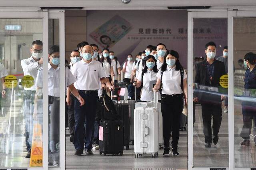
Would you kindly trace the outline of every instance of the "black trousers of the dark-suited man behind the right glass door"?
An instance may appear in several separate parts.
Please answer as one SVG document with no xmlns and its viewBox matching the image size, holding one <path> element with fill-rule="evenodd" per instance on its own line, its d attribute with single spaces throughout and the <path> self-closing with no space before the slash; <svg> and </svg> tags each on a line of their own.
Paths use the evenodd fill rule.
<svg viewBox="0 0 256 170">
<path fill-rule="evenodd" d="M 220 124 L 222 120 L 222 109 L 221 105 L 213 105 L 202 103 L 202 118 L 204 125 L 204 142 L 212 143 L 212 133 L 213 136 L 218 136 L 220 131 Z M 213 119 L 212 127 L 211 122 Z"/>
</svg>

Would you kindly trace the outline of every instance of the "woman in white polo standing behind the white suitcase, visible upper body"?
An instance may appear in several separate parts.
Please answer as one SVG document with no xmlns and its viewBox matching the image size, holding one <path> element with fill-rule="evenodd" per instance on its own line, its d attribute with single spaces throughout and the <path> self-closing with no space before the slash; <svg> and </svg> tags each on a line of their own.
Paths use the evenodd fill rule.
<svg viewBox="0 0 256 170">
<path fill-rule="evenodd" d="M 133 83 L 137 88 L 142 86 L 142 94 L 140 100 L 142 101 L 153 101 L 154 93 L 150 91 L 150 81 L 157 80 L 157 67 L 156 59 L 153 55 L 148 55 L 145 59 L 145 67 L 142 72 L 138 75 L 137 81 Z"/>
</svg>

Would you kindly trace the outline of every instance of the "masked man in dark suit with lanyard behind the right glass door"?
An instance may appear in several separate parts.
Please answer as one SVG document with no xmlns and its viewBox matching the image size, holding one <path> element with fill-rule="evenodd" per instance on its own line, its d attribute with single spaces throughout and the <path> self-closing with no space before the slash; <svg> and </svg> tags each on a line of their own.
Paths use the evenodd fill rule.
<svg viewBox="0 0 256 170">
<path fill-rule="evenodd" d="M 221 101 L 224 99 L 224 95 L 218 93 L 218 87 L 220 87 L 220 77 L 225 75 L 226 71 L 224 63 L 214 59 L 216 54 L 214 42 L 205 45 L 205 53 L 206 59 L 196 64 L 195 83 L 199 85 L 200 90 L 194 93 L 193 101 L 200 102 L 202 105 L 205 147 L 210 148 L 212 141 L 217 144 L 219 139 L 218 132 L 222 120 Z M 213 125 L 211 128 L 212 118 Z"/>
</svg>

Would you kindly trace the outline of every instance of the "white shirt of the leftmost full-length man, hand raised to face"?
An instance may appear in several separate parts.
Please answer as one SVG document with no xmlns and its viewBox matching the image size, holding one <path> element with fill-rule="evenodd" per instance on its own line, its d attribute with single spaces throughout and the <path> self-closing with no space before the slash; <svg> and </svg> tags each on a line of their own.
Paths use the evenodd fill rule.
<svg viewBox="0 0 256 170">
<path fill-rule="evenodd" d="M 41 64 L 38 64 L 38 61 L 35 61 L 33 57 L 29 57 L 27 59 L 22 59 L 20 61 L 21 67 L 23 69 L 24 75 L 30 75 L 34 78 L 34 82 L 36 82 L 36 76 L 38 69 L 41 67 Z M 36 85 L 34 85 L 30 88 L 24 87 L 24 90 L 36 90 Z"/>
</svg>

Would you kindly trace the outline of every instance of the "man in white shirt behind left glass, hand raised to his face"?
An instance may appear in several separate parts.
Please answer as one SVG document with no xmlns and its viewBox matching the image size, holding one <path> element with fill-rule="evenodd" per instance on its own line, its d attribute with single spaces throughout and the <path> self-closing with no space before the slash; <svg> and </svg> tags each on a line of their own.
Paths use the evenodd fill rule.
<svg viewBox="0 0 256 170">
<path fill-rule="evenodd" d="M 21 67 L 23 69 L 24 76 L 30 75 L 33 77 L 34 82 L 36 81 L 36 76 L 38 69 L 43 64 L 43 43 L 40 40 L 32 42 L 30 47 L 31 56 L 27 59 L 22 59 L 20 61 Z M 33 85 L 30 88 L 24 87 L 24 115 L 25 115 L 25 131 L 26 131 L 26 146 L 28 153 L 25 156 L 30 158 L 31 146 L 32 146 L 32 134 L 33 134 L 33 118 L 34 113 L 34 97 L 36 93 L 36 86 Z"/>
</svg>

